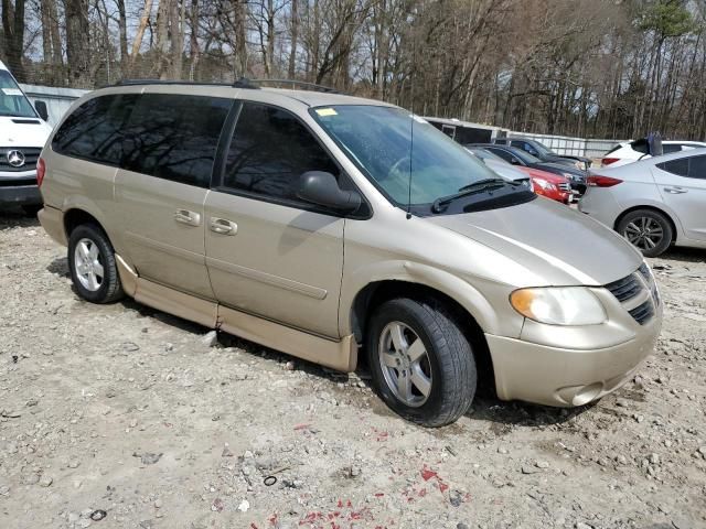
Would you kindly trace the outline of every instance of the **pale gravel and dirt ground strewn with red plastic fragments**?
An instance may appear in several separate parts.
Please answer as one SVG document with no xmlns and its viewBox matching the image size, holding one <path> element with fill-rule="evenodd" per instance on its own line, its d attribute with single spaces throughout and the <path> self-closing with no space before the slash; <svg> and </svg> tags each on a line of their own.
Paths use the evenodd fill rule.
<svg viewBox="0 0 706 529">
<path fill-rule="evenodd" d="M 425 430 L 364 374 L 81 301 L 65 249 L 3 214 L 0 527 L 706 527 L 705 260 L 651 261 L 664 330 L 616 395 Z"/>
</svg>

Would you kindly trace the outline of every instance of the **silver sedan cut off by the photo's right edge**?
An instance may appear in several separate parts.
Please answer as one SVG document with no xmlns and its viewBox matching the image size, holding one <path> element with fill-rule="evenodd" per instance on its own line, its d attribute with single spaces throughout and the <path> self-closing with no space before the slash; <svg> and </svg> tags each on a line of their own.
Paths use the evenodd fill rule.
<svg viewBox="0 0 706 529">
<path fill-rule="evenodd" d="M 706 248 L 706 149 L 597 170 L 579 209 L 645 257 L 671 245 Z"/>
</svg>

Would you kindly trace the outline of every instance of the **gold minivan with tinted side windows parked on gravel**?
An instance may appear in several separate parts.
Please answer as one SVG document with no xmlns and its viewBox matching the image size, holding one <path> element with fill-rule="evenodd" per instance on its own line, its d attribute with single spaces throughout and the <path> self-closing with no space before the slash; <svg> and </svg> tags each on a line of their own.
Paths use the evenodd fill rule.
<svg viewBox="0 0 706 529">
<path fill-rule="evenodd" d="M 127 83 L 76 101 L 38 169 L 84 299 L 127 294 L 342 371 L 362 353 L 424 425 L 456 421 L 477 384 L 596 400 L 660 331 L 628 242 L 382 101 Z"/>
</svg>

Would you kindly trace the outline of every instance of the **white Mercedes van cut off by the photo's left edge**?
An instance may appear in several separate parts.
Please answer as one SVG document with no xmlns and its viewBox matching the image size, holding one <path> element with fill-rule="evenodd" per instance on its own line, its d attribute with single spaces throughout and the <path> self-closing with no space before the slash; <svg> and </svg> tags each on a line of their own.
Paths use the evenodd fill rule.
<svg viewBox="0 0 706 529">
<path fill-rule="evenodd" d="M 35 105 L 0 62 L 0 210 L 11 205 L 36 210 L 42 204 L 36 162 L 52 128 L 46 104 Z"/>
</svg>

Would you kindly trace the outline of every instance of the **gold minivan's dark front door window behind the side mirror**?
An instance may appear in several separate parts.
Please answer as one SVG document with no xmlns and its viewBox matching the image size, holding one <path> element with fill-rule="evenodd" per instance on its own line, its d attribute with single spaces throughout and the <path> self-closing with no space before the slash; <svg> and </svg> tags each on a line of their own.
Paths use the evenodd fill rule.
<svg viewBox="0 0 706 529">
<path fill-rule="evenodd" d="M 245 102 L 228 149 L 223 185 L 268 198 L 301 202 L 300 176 L 338 165 L 303 123 L 280 108 Z"/>
</svg>

